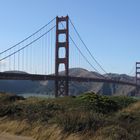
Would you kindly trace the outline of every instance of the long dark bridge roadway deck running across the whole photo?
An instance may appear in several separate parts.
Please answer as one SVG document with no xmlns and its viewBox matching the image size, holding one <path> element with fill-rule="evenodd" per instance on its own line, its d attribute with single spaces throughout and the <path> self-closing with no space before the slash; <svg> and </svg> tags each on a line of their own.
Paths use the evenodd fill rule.
<svg viewBox="0 0 140 140">
<path fill-rule="evenodd" d="M 136 83 L 126 82 L 120 80 L 113 80 L 108 78 L 94 78 L 94 77 L 73 77 L 73 76 L 55 76 L 55 75 L 39 75 L 39 74 L 27 74 L 27 73 L 6 73 L 0 72 L 0 80 L 33 80 L 33 81 L 44 81 L 44 80 L 66 80 L 76 82 L 99 82 L 99 83 L 114 83 L 121 85 L 137 86 Z"/>
</svg>

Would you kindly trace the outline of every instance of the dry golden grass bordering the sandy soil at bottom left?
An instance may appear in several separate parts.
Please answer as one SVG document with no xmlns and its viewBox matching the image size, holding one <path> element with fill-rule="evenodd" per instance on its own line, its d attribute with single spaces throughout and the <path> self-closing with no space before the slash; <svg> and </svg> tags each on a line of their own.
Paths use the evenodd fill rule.
<svg viewBox="0 0 140 140">
<path fill-rule="evenodd" d="M 10 133 L 13 135 L 29 136 L 35 140 L 82 140 L 79 134 L 63 133 L 57 125 L 40 125 L 34 123 L 29 125 L 26 120 L 8 120 L 1 118 L 0 133 Z"/>
</svg>

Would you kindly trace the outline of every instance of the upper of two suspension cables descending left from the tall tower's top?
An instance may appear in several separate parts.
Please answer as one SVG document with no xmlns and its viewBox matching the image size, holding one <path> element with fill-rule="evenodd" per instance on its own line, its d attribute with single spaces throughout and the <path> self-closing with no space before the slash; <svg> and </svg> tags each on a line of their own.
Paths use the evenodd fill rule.
<svg viewBox="0 0 140 140">
<path fill-rule="evenodd" d="M 27 38 L 23 39 L 22 41 L 20 41 L 19 43 L 15 44 L 14 46 L 0 52 L 0 55 L 15 48 L 16 46 L 18 46 L 19 44 L 25 42 L 26 40 L 28 40 L 29 38 L 31 38 L 32 36 L 34 36 L 35 34 L 37 34 L 38 32 L 40 32 L 41 30 L 43 30 L 45 27 L 47 27 L 49 24 L 51 24 L 53 21 L 55 20 L 55 18 L 53 18 L 50 22 L 48 22 L 47 24 L 45 24 L 43 27 L 41 27 L 39 30 L 37 30 L 36 32 L 34 32 L 33 34 L 31 34 L 30 36 L 28 36 Z"/>
</svg>

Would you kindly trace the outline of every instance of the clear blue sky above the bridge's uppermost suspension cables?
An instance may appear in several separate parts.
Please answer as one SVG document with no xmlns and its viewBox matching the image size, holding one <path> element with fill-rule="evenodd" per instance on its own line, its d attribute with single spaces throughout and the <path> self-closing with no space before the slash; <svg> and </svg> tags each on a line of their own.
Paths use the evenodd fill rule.
<svg viewBox="0 0 140 140">
<path fill-rule="evenodd" d="M 140 0 L 0 0 L 0 51 L 67 14 L 107 72 L 140 61 Z"/>
</svg>

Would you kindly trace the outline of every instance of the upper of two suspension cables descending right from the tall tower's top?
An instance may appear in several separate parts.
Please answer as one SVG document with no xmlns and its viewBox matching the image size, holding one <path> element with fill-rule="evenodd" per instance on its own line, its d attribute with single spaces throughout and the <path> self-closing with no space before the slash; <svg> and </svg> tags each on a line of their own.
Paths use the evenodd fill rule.
<svg viewBox="0 0 140 140">
<path fill-rule="evenodd" d="M 90 56 L 92 57 L 92 59 L 96 62 L 96 64 L 101 68 L 101 70 L 107 74 L 106 70 L 101 66 L 101 64 L 96 60 L 96 58 L 92 55 L 92 53 L 90 52 L 89 48 L 87 47 L 87 45 L 85 44 L 85 42 L 83 41 L 82 37 L 80 36 L 79 32 L 77 31 L 76 27 L 74 26 L 72 20 L 69 18 L 70 23 L 72 25 L 72 27 L 74 28 L 77 36 L 79 37 L 79 39 L 81 40 L 81 42 L 83 43 L 83 45 L 85 46 L 86 50 L 88 51 L 88 53 L 90 54 Z"/>
</svg>

